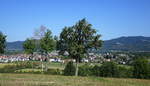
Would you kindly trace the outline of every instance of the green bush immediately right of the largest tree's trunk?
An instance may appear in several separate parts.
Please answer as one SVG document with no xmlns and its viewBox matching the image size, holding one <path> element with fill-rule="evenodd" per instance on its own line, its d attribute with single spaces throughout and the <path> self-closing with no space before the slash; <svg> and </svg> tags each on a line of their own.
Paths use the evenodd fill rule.
<svg viewBox="0 0 150 86">
<path fill-rule="evenodd" d="M 91 76 L 92 67 L 88 64 L 79 67 L 79 76 Z"/>
</svg>

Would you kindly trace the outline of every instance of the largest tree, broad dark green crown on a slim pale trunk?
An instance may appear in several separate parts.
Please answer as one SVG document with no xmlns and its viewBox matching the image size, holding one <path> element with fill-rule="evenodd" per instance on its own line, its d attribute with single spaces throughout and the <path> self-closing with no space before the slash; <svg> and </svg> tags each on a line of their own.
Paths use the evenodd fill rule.
<svg viewBox="0 0 150 86">
<path fill-rule="evenodd" d="M 88 54 L 89 49 L 98 49 L 102 45 L 101 35 L 92 28 L 86 19 L 82 19 L 72 27 L 65 27 L 60 34 L 59 49 L 67 51 L 69 56 L 76 60 L 76 73 L 78 76 L 78 63 Z"/>
</svg>

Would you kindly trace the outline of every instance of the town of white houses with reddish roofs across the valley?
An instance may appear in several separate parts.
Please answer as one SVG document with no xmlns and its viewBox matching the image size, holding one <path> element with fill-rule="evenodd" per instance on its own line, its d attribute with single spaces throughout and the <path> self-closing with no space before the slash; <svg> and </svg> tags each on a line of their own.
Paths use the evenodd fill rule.
<svg viewBox="0 0 150 86">
<path fill-rule="evenodd" d="M 61 59 L 59 58 L 59 54 L 57 51 L 52 52 L 48 55 L 49 59 L 47 59 L 44 56 L 41 56 L 39 54 L 34 54 L 33 57 L 31 58 L 31 55 L 27 54 L 17 54 L 17 55 L 2 55 L 0 56 L 0 62 L 1 63 L 6 63 L 6 62 L 16 62 L 16 61 L 29 61 L 29 60 L 36 60 L 36 61 L 49 61 L 49 62 L 66 62 L 69 61 L 67 59 Z M 126 54 L 117 54 L 114 55 L 112 53 L 103 53 L 103 54 L 95 54 L 95 53 L 89 53 L 88 58 L 83 58 L 81 61 L 82 62 L 94 62 L 94 63 L 103 63 L 106 61 L 112 61 L 115 60 L 120 64 L 126 64 L 126 61 L 129 56 Z M 72 60 L 75 62 L 75 60 Z"/>
</svg>

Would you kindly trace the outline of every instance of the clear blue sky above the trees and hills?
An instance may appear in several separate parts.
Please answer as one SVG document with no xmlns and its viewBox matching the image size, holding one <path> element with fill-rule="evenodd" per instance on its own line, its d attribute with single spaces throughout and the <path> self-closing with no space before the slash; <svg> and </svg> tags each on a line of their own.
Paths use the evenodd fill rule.
<svg viewBox="0 0 150 86">
<path fill-rule="evenodd" d="M 32 37 L 41 25 L 59 36 L 83 18 L 103 40 L 150 37 L 150 0 L 0 0 L 0 31 L 9 42 Z"/>
</svg>

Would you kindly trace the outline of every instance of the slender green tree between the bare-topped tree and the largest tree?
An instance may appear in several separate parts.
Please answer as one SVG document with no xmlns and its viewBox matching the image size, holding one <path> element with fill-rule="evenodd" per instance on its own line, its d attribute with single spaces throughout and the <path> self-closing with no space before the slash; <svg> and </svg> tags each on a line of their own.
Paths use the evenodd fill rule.
<svg viewBox="0 0 150 86">
<path fill-rule="evenodd" d="M 56 43 L 52 36 L 52 32 L 47 29 L 44 34 L 44 37 L 40 40 L 41 52 L 46 56 L 46 60 L 48 60 L 48 55 L 55 49 Z M 47 71 L 47 65 L 46 65 Z"/>
</svg>

